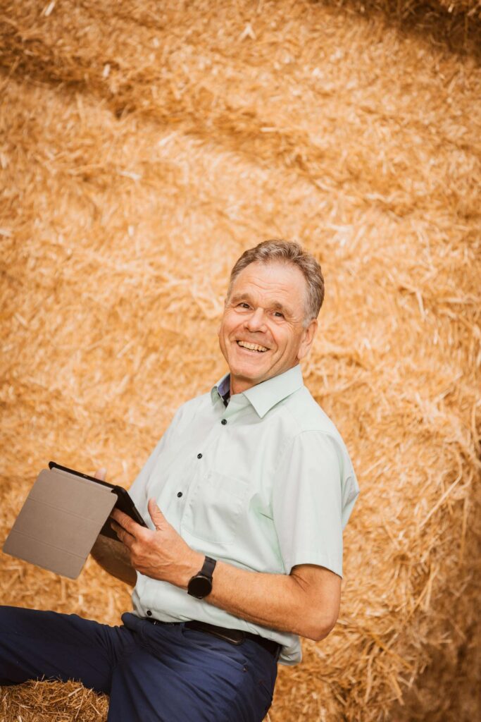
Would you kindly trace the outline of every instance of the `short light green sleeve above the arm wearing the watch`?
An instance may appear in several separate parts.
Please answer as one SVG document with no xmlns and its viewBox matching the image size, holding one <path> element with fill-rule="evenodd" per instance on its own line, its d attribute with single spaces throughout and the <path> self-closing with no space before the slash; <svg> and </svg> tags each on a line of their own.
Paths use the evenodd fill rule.
<svg viewBox="0 0 481 722">
<path fill-rule="evenodd" d="M 309 430 L 296 435 L 281 458 L 273 518 L 286 573 L 299 564 L 343 575 L 343 527 L 358 486 L 342 440 Z"/>
</svg>

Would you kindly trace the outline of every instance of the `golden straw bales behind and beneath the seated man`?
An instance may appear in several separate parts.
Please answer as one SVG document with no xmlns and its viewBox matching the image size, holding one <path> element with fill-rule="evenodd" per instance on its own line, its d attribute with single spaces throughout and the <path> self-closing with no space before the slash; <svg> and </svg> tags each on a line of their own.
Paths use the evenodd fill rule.
<svg viewBox="0 0 481 722">
<path fill-rule="evenodd" d="M 475 61 L 302 1 L 30 1 L 2 28 L 3 534 L 50 458 L 128 486 L 224 372 L 233 261 L 299 238 L 327 280 L 304 375 L 361 497 L 339 622 L 281 669 L 270 718 L 479 717 Z M 2 556 L 0 583 L 110 623 L 129 604 L 92 561 L 70 581 Z M 107 703 L 34 684 L 1 704 Z"/>
</svg>

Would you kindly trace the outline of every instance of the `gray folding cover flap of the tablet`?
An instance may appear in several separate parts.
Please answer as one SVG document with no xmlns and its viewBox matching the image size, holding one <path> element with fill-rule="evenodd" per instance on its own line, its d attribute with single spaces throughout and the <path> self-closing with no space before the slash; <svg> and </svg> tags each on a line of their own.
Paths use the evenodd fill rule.
<svg viewBox="0 0 481 722">
<path fill-rule="evenodd" d="M 3 551 L 76 579 L 116 500 L 101 484 L 59 469 L 43 469 Z"/>
</svg>

